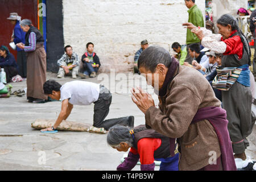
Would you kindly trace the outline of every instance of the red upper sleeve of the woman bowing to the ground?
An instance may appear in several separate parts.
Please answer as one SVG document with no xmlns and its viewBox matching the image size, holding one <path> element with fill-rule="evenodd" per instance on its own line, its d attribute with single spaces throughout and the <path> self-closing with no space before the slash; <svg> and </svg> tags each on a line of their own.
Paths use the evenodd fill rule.
<svg viewBox="0 0 256 182">
<path fill-rule="evenodd" d="M 159 138 L 142 138 L 139 140 L 137 146 L 141 164 L 154 163 L 154 152 L 161 143 L 162 140 Z"/>
</svg>

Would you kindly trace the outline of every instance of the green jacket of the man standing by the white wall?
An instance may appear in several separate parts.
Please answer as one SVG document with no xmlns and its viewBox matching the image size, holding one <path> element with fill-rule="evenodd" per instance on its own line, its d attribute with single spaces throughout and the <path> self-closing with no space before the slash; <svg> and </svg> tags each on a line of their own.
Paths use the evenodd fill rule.
<svg viewBox="0 0 256 182">
<path fill-rule="evenodd" d="M 204 27 L 203 14 L 197 5 L 188 10 L 188 22 L 193 23 L 196 27 Z M 187 44 L 199 43 L 200 41 L 191 30 L 187 29 Z"/>
</svg>

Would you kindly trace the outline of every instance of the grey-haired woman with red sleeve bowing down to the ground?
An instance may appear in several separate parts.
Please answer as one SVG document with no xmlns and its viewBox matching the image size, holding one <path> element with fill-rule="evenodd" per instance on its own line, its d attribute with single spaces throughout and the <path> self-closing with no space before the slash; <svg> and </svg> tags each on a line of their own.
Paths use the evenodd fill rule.
<svg viewBox="0 0 256 182">
<path fill-rule="evenodd" d="M 134 129 L 115 125 L 109 129 L 108 144 L 119 152 L 129 154 L 125 161 L 117 167 L 118 171 L 131 171 L 138 160 L 142 171 L 154 171 L 156 161 L 161 161 L 160 171 L 178 171 L 179 153 L 177 150 L 171 156 L 168 137 L 139 125 Z"/>
</svg>

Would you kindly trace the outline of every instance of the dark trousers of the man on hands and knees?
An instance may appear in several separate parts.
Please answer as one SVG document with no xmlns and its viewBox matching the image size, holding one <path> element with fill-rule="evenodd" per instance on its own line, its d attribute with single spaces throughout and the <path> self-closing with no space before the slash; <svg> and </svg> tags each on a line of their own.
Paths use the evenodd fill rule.
<svg viewBox="0 0 256 182">
<path fill-rule="evenodd" d="M 94 102 L 94 115 L 93 115 L 93 126 L 104 127 L 105 130 L 109 130 L 114 125 L 126 125 L 128 126 L 128 117 L 107 119 L 106 116 L 109 114 L 109 107 L 112 102 L 112 94 L 104 86 L 100 86 L 100 96 L 98 101 Z"/>
</svg>

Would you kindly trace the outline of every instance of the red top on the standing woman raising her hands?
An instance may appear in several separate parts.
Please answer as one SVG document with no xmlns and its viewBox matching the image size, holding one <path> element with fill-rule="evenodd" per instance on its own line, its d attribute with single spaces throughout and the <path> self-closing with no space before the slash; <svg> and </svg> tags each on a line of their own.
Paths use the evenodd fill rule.
<svg viewBox="0 0 256 182">
<path fill-rule="evenodd" d="M 224 55 L 237 55 L 239 59 L 242 58 L 243 43 L 240 36 L 233 36 L 233 38 L 225 39 L 223 42 L 226 44 L 226 52 L 224 52 Z"/>
</svg>

